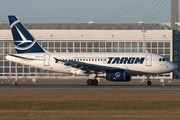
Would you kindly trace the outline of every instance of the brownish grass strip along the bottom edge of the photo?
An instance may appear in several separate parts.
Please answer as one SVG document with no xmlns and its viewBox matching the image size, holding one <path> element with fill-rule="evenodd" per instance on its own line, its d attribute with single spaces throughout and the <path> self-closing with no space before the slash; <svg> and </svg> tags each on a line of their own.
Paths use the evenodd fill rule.
<svg viewBox="0 0 180 120">
<path fill-rule="evenodd" d="M 2 120 L 179 120 L 179 111 L 26 111 L 0 112 Z"/>
</svg>

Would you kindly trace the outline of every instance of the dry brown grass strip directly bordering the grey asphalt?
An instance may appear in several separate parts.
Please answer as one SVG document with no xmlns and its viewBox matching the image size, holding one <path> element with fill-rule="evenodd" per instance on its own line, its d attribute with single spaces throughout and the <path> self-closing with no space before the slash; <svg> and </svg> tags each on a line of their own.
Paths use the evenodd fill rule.
<svg viewBox="0 0 180 120">
<path fill-rule="evenodd" d="M 180 101 L 180 91 L 0 90 L 0 101 Z"/>
</svg>

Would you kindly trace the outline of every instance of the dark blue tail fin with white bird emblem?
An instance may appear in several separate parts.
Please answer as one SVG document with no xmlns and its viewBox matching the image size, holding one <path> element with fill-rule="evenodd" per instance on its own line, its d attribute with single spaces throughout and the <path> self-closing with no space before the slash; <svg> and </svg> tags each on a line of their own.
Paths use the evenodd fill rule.
<svg viewBox="0 0 180 120">
<path fill-rule="evenodd" d="M 45 52 L 16 16 L 8 18 L 17 54 Z"/>
</svg>

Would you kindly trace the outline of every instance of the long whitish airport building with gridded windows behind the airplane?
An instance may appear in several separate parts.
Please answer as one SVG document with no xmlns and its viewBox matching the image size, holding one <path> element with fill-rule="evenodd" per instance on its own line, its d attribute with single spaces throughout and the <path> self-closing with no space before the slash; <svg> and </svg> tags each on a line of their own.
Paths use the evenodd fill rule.
<svg viewBox="0 0 180 120">
<path fill-rule="evenodd" d="M 152 52 L 166 56 L 179 66 L 179 31 L 162 23 L 24 23 L 37 41 L 51 52 Z M 67 78 L 72 75 L 8 62 L 15 54 L 9 23 L 0 23 L 0 79 Z M 174 73 L 154 79 L 177 79 Z M 142 79 L 142 76 L 133 76 Z"/>
</svg>

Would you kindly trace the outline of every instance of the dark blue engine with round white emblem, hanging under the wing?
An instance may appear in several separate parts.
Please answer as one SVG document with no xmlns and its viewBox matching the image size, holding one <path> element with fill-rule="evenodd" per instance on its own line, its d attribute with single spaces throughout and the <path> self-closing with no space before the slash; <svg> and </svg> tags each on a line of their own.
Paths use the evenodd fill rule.
<svg viewBox="0 0 180 120">
<path fill-rule="evenodd" d="M 131 76 L 126 75 L 126 71 L 122 69 L 109 69 L 106 70 L 106 80 L 125 82 L 131 81 Z"/>
</svg>

